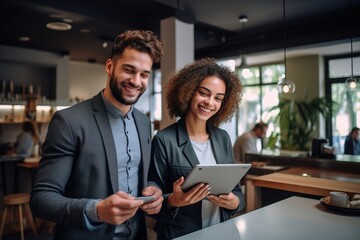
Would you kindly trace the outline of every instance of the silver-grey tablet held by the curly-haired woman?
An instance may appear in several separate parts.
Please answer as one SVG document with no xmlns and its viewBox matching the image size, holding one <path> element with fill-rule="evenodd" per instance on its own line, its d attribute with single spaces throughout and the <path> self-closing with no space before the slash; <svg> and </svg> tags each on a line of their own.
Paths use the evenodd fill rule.
<svg viewBox="0 0 360 240">
<path fill-rule="evenodd" d="M 186 192 L 198 183 L 210 185 L 210 194 L 229 194 L 251 167 L 245 164 L 198 164 L 185 178 L 181 189 Z"/>
</svg>

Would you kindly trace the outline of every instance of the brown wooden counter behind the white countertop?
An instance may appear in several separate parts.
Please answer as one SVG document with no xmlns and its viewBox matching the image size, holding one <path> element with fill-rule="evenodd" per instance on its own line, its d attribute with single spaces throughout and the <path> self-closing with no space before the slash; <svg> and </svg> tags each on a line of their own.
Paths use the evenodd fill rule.
<svg viewBox="0 0 360 240">
<path fill-rule="evenodd" d="M 334 159 L 247 154 L 253 167 L 245 176 L 246 212 L 290 196 L 320 199 L 331 191 L 360 193 L 360 156 Z"/>
</svg>

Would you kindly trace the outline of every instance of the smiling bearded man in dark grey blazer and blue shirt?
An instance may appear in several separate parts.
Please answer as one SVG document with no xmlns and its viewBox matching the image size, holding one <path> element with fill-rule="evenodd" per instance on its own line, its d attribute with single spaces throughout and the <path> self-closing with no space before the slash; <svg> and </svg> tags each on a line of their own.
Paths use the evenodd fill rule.
<svg viewBox="0 0 360 240">
<path fill-rule="evenodd" d="M 54 114 L 30 201 L 36 217 L 56 223 L 54 239 L 147 239 L 144 212 L 158 213 L 163 197 L 147 186 L 150 121 L 133 104 L 162 53 L 152 32 L 119 35 L 105 89 Z"/>
</svg>

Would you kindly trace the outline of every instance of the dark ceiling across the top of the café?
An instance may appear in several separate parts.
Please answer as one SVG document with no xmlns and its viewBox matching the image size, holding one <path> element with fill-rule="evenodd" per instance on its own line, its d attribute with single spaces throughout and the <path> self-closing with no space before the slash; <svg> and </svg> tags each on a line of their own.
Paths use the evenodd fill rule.
<svg viewBox="0 0 360 240">
<path fill-rule="evenodd" d="M 44 50 L 71 60 L 104 63 L 127 29 L 160 36 L 160 21 L 193 23 L 195 58 L 226 58 L 298 46 L 348 43 L 360 37 L 360 0 L 1 0 L 1 45 Z M 247 23 L 238 17 L 246 15 Z M 72 20 L 68 31 L 46 28 Z M 22 42 L 20 37 L 29 37 Z"/>
</svg>

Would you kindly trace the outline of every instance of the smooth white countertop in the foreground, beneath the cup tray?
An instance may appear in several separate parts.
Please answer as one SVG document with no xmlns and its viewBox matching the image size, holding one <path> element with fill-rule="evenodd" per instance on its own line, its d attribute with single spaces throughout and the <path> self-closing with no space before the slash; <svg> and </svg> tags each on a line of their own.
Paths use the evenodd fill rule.
<svg viewBox="0 0 360 240">
<path fill-rule="evenodd" d="M 290 197 L 176 240 L 358 240 L 360 216 L 344 215 L 318 200 Z"/>
</svg>

